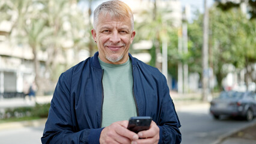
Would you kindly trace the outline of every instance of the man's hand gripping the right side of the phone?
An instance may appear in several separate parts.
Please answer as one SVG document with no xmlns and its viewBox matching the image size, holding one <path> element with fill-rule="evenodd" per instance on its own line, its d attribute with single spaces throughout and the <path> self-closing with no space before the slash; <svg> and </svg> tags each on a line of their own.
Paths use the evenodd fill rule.
<svg viewBox="0 0 256 144">
<path fill-rule="evenodd" d="M 150 129 L 145 130 L 145 131 L 139 131 L 138 136 L 139 136 L 139 138 L 142 138 L 142 139 L 133 140 L 132 143 L 137 143 L 137 144 L 158 143 L 158 141 L 159 141 L 159 127 L 156 125 L 156 123 L 154 121 L 151 121 Z"/>
</svg>

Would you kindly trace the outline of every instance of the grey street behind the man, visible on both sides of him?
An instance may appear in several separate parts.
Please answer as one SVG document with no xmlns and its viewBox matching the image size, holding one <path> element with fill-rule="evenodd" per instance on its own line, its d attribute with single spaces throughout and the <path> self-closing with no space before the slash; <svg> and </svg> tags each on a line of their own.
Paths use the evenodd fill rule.
<svg viewBox="0 0 256 144">
<path fill-rule="evenodd" d="M 251 122 L 224 118 L 214 120 L 209 115 L 209 104 L 176 107 L 182 127 L 181 144 L 211 144 L 220 136 L 245 127 Z M 256 118 L 254 119 L 256 122 Z M 0 131 L 0 143 L 39 144 L 44 125 Z"/>
</svg>

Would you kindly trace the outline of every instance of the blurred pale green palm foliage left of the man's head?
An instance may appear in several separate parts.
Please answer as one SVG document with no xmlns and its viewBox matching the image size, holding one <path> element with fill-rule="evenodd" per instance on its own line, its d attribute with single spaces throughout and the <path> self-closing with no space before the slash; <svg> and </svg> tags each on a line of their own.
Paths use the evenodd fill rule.
<svg viewBox="0 0 256 144">
<path fill-rule="evenodd" d="M 77 63 L 79 50 L 85 48 L 89 41 L 89 19 L 77 6 L 73 0 L 0 2 L 1 20 L 13 23 L 9 34 L 9 38 L 14 41 L 12 45 L 16 43 L 32 48 L 38 91 L 44 89 L 39 83 L 47 86 L 49 80 L 56 82 L 61 71 L 73 65 L 67 59 L 69 49 L 73 50 Z M 47 58 L 38 58 L 39 52 L 46 53 Z M 62 60 L 59 61 L 59 58 Z M 45 64 L 45 71 L 40 71 L 42 62 Z"/>
</svg>

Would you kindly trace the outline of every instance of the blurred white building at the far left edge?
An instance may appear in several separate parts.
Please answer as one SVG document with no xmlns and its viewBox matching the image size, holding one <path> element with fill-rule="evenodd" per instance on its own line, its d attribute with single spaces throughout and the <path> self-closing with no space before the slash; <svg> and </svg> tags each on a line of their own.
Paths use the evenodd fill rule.
<svg viewBox="0 0 256 144">
<path fill-rule="evenodd" d="M 0 23 L 0 97 L 23 97 L 34 80 L 32 50 L 28 46 L 12 45 L 8 38 L 12 23 Z"/>
</svg>

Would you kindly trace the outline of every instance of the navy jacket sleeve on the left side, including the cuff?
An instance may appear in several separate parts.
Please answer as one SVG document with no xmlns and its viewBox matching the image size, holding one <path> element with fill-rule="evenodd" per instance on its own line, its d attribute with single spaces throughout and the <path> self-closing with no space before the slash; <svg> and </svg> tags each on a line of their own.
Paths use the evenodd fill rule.
<svg viewBox="0 0 256 144">
<path fill-rule="evenodd" d="M 49 115 L 41 137 L 44 143 L 99 143 L 103 128 L 75 131 L 74 113 L 70 106 L 71 78 L 63 73 L 59 77 Z"/>
</svg>

